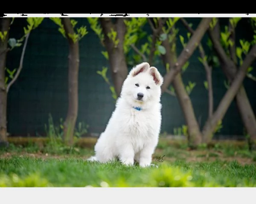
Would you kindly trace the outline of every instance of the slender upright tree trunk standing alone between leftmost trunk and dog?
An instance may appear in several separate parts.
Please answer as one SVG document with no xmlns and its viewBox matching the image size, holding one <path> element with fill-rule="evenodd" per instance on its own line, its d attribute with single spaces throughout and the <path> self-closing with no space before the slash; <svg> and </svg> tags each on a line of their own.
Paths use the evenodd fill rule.
<svg viewBox="0 0 256 204">
<path fill-rule="evenodd" d="M 78 73 L 79 73 L 79 43 L 73 42 L 68 34 L 74 34 L 70 18 L 61 18 L 69 44 L 68 56 L 68 111 L 64 122 L 64 142 L 73 144 L 73 133 L 78 112 Z"/>
</svg>

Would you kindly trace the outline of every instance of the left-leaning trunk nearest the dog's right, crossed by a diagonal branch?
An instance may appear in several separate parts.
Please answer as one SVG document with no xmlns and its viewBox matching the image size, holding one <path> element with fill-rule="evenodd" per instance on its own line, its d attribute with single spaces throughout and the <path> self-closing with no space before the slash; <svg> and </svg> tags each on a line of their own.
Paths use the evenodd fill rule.
<svg viewBox="0 0 256 204">
<path fill-rule="evenodd" d="M 169 44 L 168 39 L 164 40 L 162 45 L 166 48 L 166 54 L 163 55 L 163 63 L 166 65 L 169 63 L 170 67 L 173 67 L 175 62 L 177 62 L 177 54 L 175 49 L 171 49 L 175 44 L 174 40 Z M 195 117 L 195 112 L 192 106 L 192 102 L 186 89 L 184 87 L 181 74 L 177 74 L 173 80 L 173 85 L 175 88 L 175 93 L 178 101 L 180 102 L 181 109 L 183 111 L 186 124 L 188 126 L 188 142 L 190 147 L 197 147 L 201 143 L 202 135 Z"/>
</svg>

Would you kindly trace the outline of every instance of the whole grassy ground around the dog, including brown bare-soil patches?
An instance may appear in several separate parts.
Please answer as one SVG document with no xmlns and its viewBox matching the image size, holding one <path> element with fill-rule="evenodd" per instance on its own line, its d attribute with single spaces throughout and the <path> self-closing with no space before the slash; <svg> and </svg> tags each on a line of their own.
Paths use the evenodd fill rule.
<svg viewBox="0 0 256 204">
<path fill-rule="evenodd" d="M 0 150 L 0 187 L 256 187 L 256 151 L 247 146 L 219 143 L 191 151 L 184 142 L 160 139 L 153 159 L 158 168 L 141 168 L 87 162 L 93 148 L 52 138 Z"/>
</svg>

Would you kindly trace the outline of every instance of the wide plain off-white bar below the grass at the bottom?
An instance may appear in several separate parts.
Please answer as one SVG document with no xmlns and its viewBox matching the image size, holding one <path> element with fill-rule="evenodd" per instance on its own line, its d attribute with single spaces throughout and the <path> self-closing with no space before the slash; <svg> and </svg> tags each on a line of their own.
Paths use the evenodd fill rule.
<svg viewBox="0 0 256 204">
<path fill-rule="evenodd" d="M 256 188 L 0 188 L 3 204 L 241 204 L 254 203 Z"/>
</svg>

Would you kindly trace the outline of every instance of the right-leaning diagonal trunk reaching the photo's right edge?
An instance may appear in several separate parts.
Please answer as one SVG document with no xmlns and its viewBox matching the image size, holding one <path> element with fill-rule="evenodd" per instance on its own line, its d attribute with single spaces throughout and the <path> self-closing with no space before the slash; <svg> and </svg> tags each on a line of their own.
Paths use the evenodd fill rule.
<svg viewBox="0 0 256 204">
<path fill-rule="evenodd" d="M 231 82 L 230 88 L 227 90 L 226 94 L 222 98 L 221 102 L 218 105 L 217 110 L 212 115 L 212 118 L 207 120 L 204 128 L 203 128 L 203 142 L 209 143 L 212 139 L 212 133 L 218 125 L 218 121 L 222 120 L 225 113 L 227 112 L 228 107 L 236 96 L 239 88 L 241 88 L 241 84 L 244 80 L 244 77 L 247 74 L 247 69 L 253 63 L 256 58 L 256 45 L 251 48 L 250 52 L 244 59 L 241 68 L 237 72 L 233 81 Z"/>
</svg>

